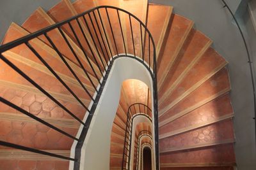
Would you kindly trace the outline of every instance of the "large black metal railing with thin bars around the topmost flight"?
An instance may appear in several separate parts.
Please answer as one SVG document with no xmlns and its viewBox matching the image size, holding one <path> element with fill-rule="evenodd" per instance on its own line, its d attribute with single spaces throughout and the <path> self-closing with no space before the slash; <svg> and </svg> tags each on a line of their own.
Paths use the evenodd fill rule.
<svg viewBox="0 0 256 170">
<path fill-rule="evenodd" d="M 122 20 L 126 21 L 125 25 L 120 22 L 120 16 L 123 17 Z M 118 22 L 117 26 L 113 24 L 113 18 L 118 18 L 118 20 L 115 20 L 115 22 Z M 74 43 L 72 43 L 67 34 L 65 34 L 64 27 L 71 30 L 68 36 L 72 37 L 72 41 L 74 41 L 81 49 L 81 53 L 77 53 Z M 113 31 L 114 29 L 115 31 Z M 56 39 L 52 38 L 53 32 L 60 34 L 58 41 L 61 41 L 61 44 L 67 46 L 68 50 L 70 51 L 70 55 L 72 56 L 67 56 L 60 43 L 58 44 Z M 126 36 L 124 36 L 124 34 Z M 121 40 L 117 38 L 120 38 Z M 57 71 L 55 71 L 54 67 L 51 66 L 51 63 L 49 63 L 49 60 L 47 60 L 47 56 L 38 51 L 38 46 L 33 43 L 33 40 L 35 39 L 44 39 L 45 43 L 51 46 L 51 48 L 56 52 L 56 56 L 58 56 L 60 61 L 64 64 L 65 69 L 70 71 L 72 76 L 76 78 L 76 81 L 83 88 L 83 96 L 86 96 L 87 99 L 91 100 L 90 105 L 85 104 L 81 100 L 82 94 L 77 94 L 74 92 L 74 90 L 72 90 L 72 88 L 65 82 L 65 80 L 61 78 Z M 33 53 L 36 59 L 40 60 L 42 66 L 47 67 L 47 69 L 53 74 L 54 78 L 56 78 L 56 80 L 63 85 L 70 95 L 76 99 L 77 103 L 83 106 L 84 110 L 86 111 L 86 115 L 88 115 L 85 122 L 81 120 L 81 118 L 78 118 L 75 113 L 72 113 L 72 111 L 70 111 L 60 101 L 58 101 L 56 97 L 52 96 L 48 89 L 45 89 L 41 83 L 38 83 L 36 80 L 31 78 L 31 74 L 26 73 L 26 71 L 22 70 L 22 68 L 19 67 L 16 62 L 12 62 L 12 60 L 8 59 L 5 52 L 8 50 L 12 51 L 13 48 L 16 47 L 26 48 L 29 50 L 29 52 Z M 150 31 L 148 31 L 147 26 L 141 22 L 141 20 L 132 15 L 132 13 L 113 6 L 98 6 L 96 8 L 92 8 L 91 10 L 85 11 L 72 18 L 68 18 L 67 20 L 63 20 L 62 22 L 45 27 L 40 31 L 33 32 L 32 34 L 0 46 L 0 59 L 3 60 L 3 62 L 7 64 L 10 69 L 18 73 L 21 78 L 28 81 L 33 87 L 42 92 L 42 94 L 51 99 L 51 101 L 60 106 L 60 108 L 62 108 L 71 117 L 76 119 L 77 122 L 83 125 L 83 131 L 81 132 L 81 136 L 76 138 L 58 127 L 45 122 L 41 118 L 36 117 L 32 113 L 29 113 L 29 111 L 26 111 L 12 102 L 4 99 L 4 97 L 0 97 L 0 101 L 11 108 L 28 115 L 28 117 L 33 118 L 48 127 L 51 127 L 68 138 L 78 141 L 76 145 L 75 157 L 63 157 L 61 155 L 43 152 L 42 150 L 37 150 L 35 148 L 28 148 L 4 141 L 0 141 L 0 145 L 49 155 L 52 157 L 58 157 L 61 159 L 72 160 L 74 161 L 74 169 L 79 169 L 81 147 L 83 146 L 83 141 L 86 137 L 88 128 L 90 127 L 93 113 L 97 107 L 97 103 L 99 102 L 113 62 L 115 59 L 120 57 L 129 57 L 141 62 L 141 64 L 147 68 L 152 78 L 154 90 L 153 106 L 155 127 L 154 142 L 156 146 L 155 156 L 156 169 L 159 169 L 156 46 Z M 88 80 L 86 85 L 84 85 L 83 80 L 81 80 L 81 77 L 77 74 L 76 69 L 70 65 L 70 62 L 73 62 L 76 64 L 76 66 L 81 68 L 84 78 Z M 35 77 L 35 75 L 33 75 L 33 77 Z M 88 90 L 88 87 L 92 87 L 93 92 Z"/>
</svg>

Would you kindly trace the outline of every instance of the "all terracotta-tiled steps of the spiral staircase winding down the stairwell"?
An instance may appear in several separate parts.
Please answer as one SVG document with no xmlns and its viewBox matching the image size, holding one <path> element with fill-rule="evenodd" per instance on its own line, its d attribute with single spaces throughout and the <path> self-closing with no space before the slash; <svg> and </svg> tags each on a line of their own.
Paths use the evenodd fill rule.
<svg viewBox="0 0 256 170">
<path fill-rule="evenodd" d="M 129 11 L 147 25 L 154 38 L 160 169 L 234 169 L 234 114 L 230 103 L 231 89 L 226 67 L 228 63 L 211 47 L 211 39 L 196 30 L 192 20 L 173 13 L 172 6 L 152 4 L 145 0 L 77 0 L 74 3 L 62 0 L 49 11 L 38 8 L 22 25 L 12 23 L 2 45 L 103 5 Z M 93 13 L 90 17 L 77 18 L 76 22 L 72 20 L 72 27 L 65 24 L 59 29 L 47 32 L 46 36 L 40 35 L 31 39 L 29 44 L 13 46 L 1 53 L 60 104 L 53 102 L 42 90 L 22 78 L 1 58 L 0 96 L 24 111 L 0 103 L 0 141 L 70 157 L 74 138 L 41 124 L 24 115 L 24 112 L 27 111 L 61 131 L 76 136 L 81 124 L 77 120 L 83 120 L 87 116 L 86 111 L 92 100 L 95 100 L 93 95 L 98 91 L 100 78 L 104 76 L 102 73 L 107 71 L 109 59 L 118 53 L 136 53 L 140 57 L 154 53 L 153 48 L 150 48 L 152 44 L 148 40 L 149 35 L 145 30 L 141 31 L 140 25 L 136 25 L 124 13 L 119 15 L 117 12 L 116 15 L 113 9 L 108 12 L 101 16 L 103 25 L 108 21 L 112 23 L 112 27 L 104 31 L 106 37 L 99 36 L 102 27 L 95 24 L 99 15 Z M 84 22 L 86 20 L 88 22 Z M 131 36 L 130 27 L 133 28 L 134 36 Z M 115 38 L 111 38 L 113 33 Z M 84 36 L 88 39 L 77 41 L 77 37 Z M 108 38 L 109 49 L 106 42 Z M 104 41 L 99 41 L 100 39 L 106 43 L 102 43 Z M 138 50 L 138 46 L 143 46 L 143 50 Z M 59 51 L 56 52 L 56 49 Z M 84 57 L 84 49 L 90 52 L 88 59 Z M 44 56 L 45 61 L 54 68 L 58 78 L 68 85 L 69 90 L 52 74 L 49 67 L 42 64 L 42 60 L 36 58 L 33 50 Z M 58 57 L 59 54 L 63 55 L 73 72 L 68 71 L 66 62 Z M 80 62 L 77 62 L 77 58 Z M 145 58 L 145 62 L 150 66 L 154 60 Z M 122 161 L 129 106 L 141 103 L 153 109 L 154 105 L 153 92 L 142 81 L 126 80 L 121 89 L 111 131 L 109 167 L 106 169 L 125 169 Z M 152 138 L 139 141 L 141 131 L 154 133 L 152 124 L 141 122 L 134 129 L 136 139 L 131 139 L 136 144 L 132 148 L 134 155 L 131 155 L 133 169 L 141 168 L 138 166 L 141 161 L 139 148 L 146 144 L 148 147 L 154 145 Z M 69 168 L 70 161 L 73 160 L 0 145 L 1 170 L 65 170 Z"/>
</svg>

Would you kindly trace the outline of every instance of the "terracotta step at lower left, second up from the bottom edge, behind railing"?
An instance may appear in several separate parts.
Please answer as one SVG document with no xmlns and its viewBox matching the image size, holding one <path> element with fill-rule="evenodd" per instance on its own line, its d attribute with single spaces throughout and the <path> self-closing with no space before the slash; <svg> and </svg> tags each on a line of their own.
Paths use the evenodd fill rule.
<svg viewBox="0 0 256 170">
<path fill-rule="evenodd" d="M 68 138 L 60 132 L 40 123 L 35 124 L 35 122 L 24 122 L 23 120 L 11 122 L 10 120 L 3 119 L 0 126 L 4 129 L 1 132 L 1 140 L 29 148 L 39 150 L 70 150 L 74 141 L 74 139 Z M 60 126 L 58 128 L 72 136 L 76 136 L 77 129 Z M 8 148 L 0 146 L 0 149 Z M 15 153 L 13 154 L 15 155 Z M 3 158 L 0 157 L 0 159 Z"/>
</svg>

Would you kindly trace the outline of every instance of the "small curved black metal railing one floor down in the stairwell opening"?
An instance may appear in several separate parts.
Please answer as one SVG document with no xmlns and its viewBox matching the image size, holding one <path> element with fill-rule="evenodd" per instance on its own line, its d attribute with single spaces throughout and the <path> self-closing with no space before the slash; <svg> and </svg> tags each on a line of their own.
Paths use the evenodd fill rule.
<svg viewBox="0 0 256 170">
<path fill-rule="evenodd" d="M 125 126 L 125 138 L 124 138 L 124 150 L 122 159 L 122 169 L 131 169 L 131 150 L 132 150 L 132 125 L 134 118 L 143 116 L 148 118 L 152 122 L 152 111 L 151 109 L 142 103 L 134 103 L 129 106 L 127 110 L 126 126 Z"/>
</svg>

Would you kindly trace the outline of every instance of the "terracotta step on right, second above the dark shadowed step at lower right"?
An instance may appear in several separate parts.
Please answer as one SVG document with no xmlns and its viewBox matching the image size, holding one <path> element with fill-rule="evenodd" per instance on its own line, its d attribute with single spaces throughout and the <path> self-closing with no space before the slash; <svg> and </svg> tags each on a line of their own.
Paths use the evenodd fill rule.
<svg viewBox="0 0 256 170">
<path fill-rule="evenodd" d="M 209 103 L 189 112 L 166 125 L 159 127 L 159 138 L 174 136 L 198 127 L 214 124 L 233 117 L 229 94 L 218 97 Z M 186 123 L 185 123 L 186 122 Z"/>
</svg>

